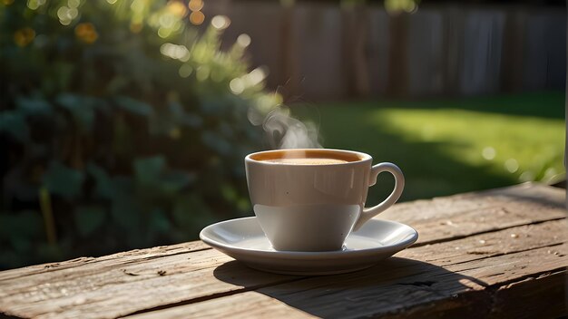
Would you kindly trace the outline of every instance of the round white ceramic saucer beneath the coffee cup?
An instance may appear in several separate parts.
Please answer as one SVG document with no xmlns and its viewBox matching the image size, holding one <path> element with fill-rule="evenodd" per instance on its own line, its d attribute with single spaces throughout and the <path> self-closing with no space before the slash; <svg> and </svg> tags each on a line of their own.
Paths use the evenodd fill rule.
<svg viewBox="0 0 568 319">
<path fill-rule="evenodd" d="M 343 250 L 276 251 L 256 218 L 238 218 L 205 227 L 200 237 L 209 246 L 255 269 L 286 275 L 332 275 L 373 266 L 412 245 L 418 233 L 401 223 L 371 219 L 348 236 Z"/>
</svg>

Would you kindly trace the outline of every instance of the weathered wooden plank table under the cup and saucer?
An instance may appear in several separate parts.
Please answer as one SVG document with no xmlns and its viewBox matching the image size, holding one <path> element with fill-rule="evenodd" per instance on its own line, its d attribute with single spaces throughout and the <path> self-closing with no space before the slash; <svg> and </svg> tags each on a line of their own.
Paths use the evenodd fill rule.
<svg viewBox="0 0 568 319">
<path fill-rule="evenodd" d="M 0 312 L 41 318 L 557 317 L 566 314 L 564 189 L 524 184 L 398 204 L 420 238 L 344 275 L 273 275 L 200 241 L 0 273 Z"/>
</svg>

